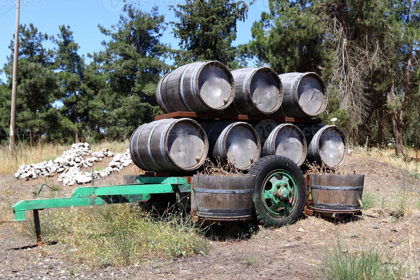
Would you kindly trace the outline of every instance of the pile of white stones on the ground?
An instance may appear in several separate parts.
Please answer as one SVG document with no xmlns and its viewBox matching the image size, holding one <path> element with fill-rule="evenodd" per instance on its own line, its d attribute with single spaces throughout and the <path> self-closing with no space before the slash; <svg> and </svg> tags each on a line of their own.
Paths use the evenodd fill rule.
<svg viewBox="0 0 420 280">
<path fill-rule="evenodd" d="M 84 156 L 89 156 L 84 158 Z M 103 170 L 92 170 L 91 172 L 82 172 L 82 168 L 93 167 L 95 162 L 100 162 L 104 157 L 113 157 L 113 160 Z M 39 176 L 53 177 L 60 173 L 58 181 L 64 186 L 72 186 L 75 183 L 89 183 L 98 177 L 104 178 L 112 172 L 120 172 L 123 167 L 129 166 L 131 160 L 129 149 L 123 154 L 114 154 L 103 148 L 98 152 L 92 152 L 88 143 L 72 144 L 71 149 L 63 152 L 61 157 L 54 161 L 38 162 L 30 165 L 19 166 L 15 177 L 18 179 L 35 179 Z"/>
</svg>

